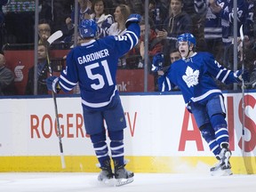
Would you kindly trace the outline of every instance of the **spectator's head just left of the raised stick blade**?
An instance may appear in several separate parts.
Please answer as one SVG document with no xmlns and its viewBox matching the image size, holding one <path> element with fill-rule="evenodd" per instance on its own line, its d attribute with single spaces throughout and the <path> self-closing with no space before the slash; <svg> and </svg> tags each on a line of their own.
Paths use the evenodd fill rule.
<svg viewBox="0 0 256 192">
<path fill-rule="evenodd" d="M 51 25 L 48 20 L 39 20 L 38 22 L 38 44 L 46 44 L 47 39 L 51 36 Z"/>
</svg>

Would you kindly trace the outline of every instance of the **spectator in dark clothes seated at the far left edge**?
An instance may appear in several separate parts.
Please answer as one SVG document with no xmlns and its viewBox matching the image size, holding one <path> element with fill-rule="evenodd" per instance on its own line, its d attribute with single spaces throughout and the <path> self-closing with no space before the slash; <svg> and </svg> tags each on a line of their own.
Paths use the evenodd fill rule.
<svg viewBox="0 0 256 192">
<path fill-rule="evenodd" d="M 5 64 L 4 53 L 0 53 L 0 96 L 16 94 L 14 75 Z"/>
</svg>

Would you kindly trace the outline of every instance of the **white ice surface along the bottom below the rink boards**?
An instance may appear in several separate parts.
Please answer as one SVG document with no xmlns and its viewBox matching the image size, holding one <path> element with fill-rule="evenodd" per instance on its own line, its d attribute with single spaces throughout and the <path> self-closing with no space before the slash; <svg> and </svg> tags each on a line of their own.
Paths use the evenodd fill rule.
<svg viewBox="0 0 256 192">
<path fill-rule="evenodd" d="M 135 173 L 134 181 L 109 187 L 97 173 L 0 173 L 0 192 L 255 192 L 256 175 Z"/>
</svg>

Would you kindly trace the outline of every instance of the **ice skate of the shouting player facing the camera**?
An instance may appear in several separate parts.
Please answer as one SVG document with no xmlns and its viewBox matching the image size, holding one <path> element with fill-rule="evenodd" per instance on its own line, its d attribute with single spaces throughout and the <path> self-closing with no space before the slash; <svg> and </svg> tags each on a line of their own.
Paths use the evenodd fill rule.
<svg viewBox="0 0 256 192">
<path fill-rule="evenodd" d="M 233 174 L 231 172 L 231 164 L 229 158 L 231 151 L 228 147 L 224 147 L 220 151 L 220 156 L 217 156 L 219 162 L 211 168 L 212 176 L 227 176 Z"/>
</svg>

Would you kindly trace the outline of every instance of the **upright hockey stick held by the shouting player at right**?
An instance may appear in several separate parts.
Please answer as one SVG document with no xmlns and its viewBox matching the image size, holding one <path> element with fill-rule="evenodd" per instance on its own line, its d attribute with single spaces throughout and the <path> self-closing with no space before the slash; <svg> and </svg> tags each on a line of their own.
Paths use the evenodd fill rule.
<svg viewBox="0 0 256 192">
<path fill-rule="evenodd" d="M 241 48 L 241 52 L 242 52 L 242 70 L 244 73 L 244 31 L 243 31 L 243 25 L 241 25 L 240 27 L 240 37 L 242 40 L 242 48 Z M 242 111 L 243 111 L 243 115 L 242 115 L 242 150 L 243 150 L 243 156 L 244 156 L 244 118 L 245 118 L 245 108 L 244 108 L 244 79 L 242 78 Z"/>
</svg>

